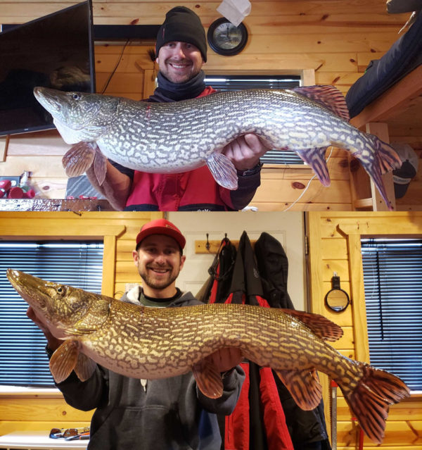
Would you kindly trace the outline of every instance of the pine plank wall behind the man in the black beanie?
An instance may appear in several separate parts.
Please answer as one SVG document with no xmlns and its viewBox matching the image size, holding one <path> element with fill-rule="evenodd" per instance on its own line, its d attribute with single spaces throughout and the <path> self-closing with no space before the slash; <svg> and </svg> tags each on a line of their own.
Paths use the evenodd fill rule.
<svg viewBox="0 0 422 450">
<path fill-rule="evenodd" d="M 0 23 L 24 23 L 58 11 L 75 1 L 0 0 Z M 134 0 L 94 0 L 94 23 L 111 25 L 160 24 L 165 12 L 179 3 Z M 205 28 L 219 18 L 217 2 L 184 1 L 200 15 Z M 351 1 L 252 1 L 245 18 L 249 42 L 237 56 L 217 56 L 209 50 L 205 71 L 221 73 L 298 73 L 307 80 L 330 84 L 344 94 L 362 75 L 371 59 L 380 58 L 397 39 L 406 14 L 388 15 L 385 0 Z M 147 51 L 153 42 L 131 42 L 106 93 L 142 99 L 153 89 L 154 63 Z M 122 44 L 96 46 L 97 90 L 101 92 L 114 70 Z M 313 81 L 311 81 L 313 82 Z M 69 146 L 56 132 L 13 136 L 0 175 L 20 175 L 30 170 L 39 195 L 64 198 L 66 177 L 61 156 Z M 343 150 L 333 151 L 328 162 L 331 187 L 312 180 L 308 168 L 264 168 L 262 186 L 252 205 L 261 211 L 334 209 L 350 210 L 349 166 Z M 297 203 L 295 203 L 297 201 Z M 295 204 L 294 204 L 295 203 Z"/>
</svg>

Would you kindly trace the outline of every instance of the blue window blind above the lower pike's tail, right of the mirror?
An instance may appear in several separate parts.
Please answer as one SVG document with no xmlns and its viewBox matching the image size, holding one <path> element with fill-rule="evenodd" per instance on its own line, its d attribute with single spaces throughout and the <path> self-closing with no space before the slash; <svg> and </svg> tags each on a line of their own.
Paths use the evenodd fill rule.
<svg viewBox="0 0 422 450">
<path fill-rule="evenodd" d="M 422 391 L 422 239 L 362 239 L 371 364 Z"/>
</svg>

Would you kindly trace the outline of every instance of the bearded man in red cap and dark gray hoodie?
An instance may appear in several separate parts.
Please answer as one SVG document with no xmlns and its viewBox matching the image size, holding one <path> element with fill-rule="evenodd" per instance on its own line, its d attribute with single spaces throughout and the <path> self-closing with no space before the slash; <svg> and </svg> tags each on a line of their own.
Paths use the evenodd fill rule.
<svg viewBox="0 0 422 450">
<path fill-rule="evenodd" d="M 179 229 L 168 220 L 143 225 L 133 251 L 142 288 L 131 289 L 122 301 L 155 308 L 200 304 L 190 292 L 182 293 L 176 287 L 185 261 L 185 243 Z M 32 308 L 27 314 L 46 335 L 51 356 L 61 341 L 39 323 Z M 72 373 L 57 387 L 74 408 L 96 409 L 88 450 L 219 450 L 217 413 L 229 415 L 234 410 L 245 374 L 238 366 L 238 349 L 223 349 L 207 358 L 222 373 L 224 392 L 219 399 L 204 396 L 192 373 L 137 380 L 100 365 L 89 380 L 81 382 Z"/>
</svg>

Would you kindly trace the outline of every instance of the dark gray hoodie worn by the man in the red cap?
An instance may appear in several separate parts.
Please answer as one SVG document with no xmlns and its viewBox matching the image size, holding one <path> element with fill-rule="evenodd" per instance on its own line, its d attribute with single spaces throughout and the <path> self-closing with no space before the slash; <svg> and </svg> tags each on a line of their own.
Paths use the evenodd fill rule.
<svg viewBox="0 0 422 450">
<path fill-rule="evenodd" d="M 136 303 L 140 289 L 122 301 Z M 129 294 L 129 296 L 128 296 Z M 169 307 L 200 304 L 186 292 Z M 224 377 L 224 393 L 209 399 L 196 386 L 192 373 L 162 380 L 138 380 L 97 366 L 81 382 L 72 373 L 57 385 L 74 408 L 96 408 L 88 450 L 219 450 L 216 413 L 229 415 L 236 406 L 245 374 L 240 366 Z"/>
</svg>

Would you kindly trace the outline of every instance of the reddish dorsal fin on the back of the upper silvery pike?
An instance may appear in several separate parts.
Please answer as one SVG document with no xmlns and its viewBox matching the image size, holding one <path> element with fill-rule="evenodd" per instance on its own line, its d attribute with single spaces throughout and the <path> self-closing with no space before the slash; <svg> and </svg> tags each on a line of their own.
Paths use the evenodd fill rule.
<svg viewBox="0 0 422 450">
<path fill-rule="evenodd" d="M 308 99 L 316 101 L 325 106 L 333 113 L 340 115 L 341 118 L 350 120 L 349 108 L 347 108 L 345 96 L 334 86 L 301 86 L 294 87 L 292 91 L 307 96 Z"/>
</svg>

